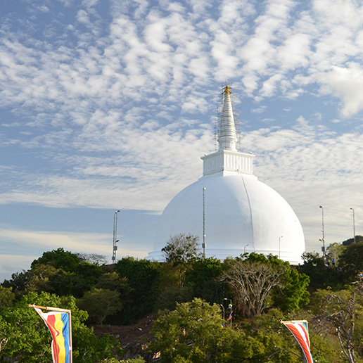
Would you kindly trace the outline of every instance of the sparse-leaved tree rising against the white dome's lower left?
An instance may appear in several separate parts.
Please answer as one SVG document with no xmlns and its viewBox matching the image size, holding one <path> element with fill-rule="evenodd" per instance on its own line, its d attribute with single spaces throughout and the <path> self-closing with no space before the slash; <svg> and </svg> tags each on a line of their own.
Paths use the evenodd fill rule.
<svg viewBox="0 0 363 363">
<path fill-rule="evenodd" d="M 174 265 L 185 264 L 195 261 L 198 253 L 198 236 L 191 234 L 177 234 L 170 237 L 167 245 L 162 248 L 167 262 L 173 262 Z"/>
</svg>

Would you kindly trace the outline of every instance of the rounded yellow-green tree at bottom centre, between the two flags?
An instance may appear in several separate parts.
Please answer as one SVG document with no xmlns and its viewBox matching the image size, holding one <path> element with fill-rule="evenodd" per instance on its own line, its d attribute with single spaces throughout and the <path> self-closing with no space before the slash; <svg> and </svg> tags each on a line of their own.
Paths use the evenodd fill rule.
<svg viewBox="0 0 363 363">
<path fill-rule="evenodd" d="M 150 349 L 160 351 L 163 362 L 239 363 L 264 351 L 262 343 L 243 331 L 223 328 L 219 306 L 198 298 L 160 312 L 153 333 Z"/>
</svg>

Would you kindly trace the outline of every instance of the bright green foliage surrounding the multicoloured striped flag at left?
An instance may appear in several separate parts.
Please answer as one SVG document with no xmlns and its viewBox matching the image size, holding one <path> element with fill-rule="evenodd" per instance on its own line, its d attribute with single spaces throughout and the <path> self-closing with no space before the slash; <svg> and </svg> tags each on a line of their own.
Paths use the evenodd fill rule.
<svg viewBox="0 0 363 363">
<path fill-rule="evenodd" d="M 75 298 L 49 293 L 29 293 L 15 307 L 1 311 L 0 337 L 6 338 L 0 359 L 19 363 L 49 363 L 51 335 L 38 314 L 28 304 L 62 307 L 72 310 L 73 362 L 94 363 L 120 352 L 119 343 L 111 336 L 98 339 L 83 321 L 87 312 L 79 310 Z"/>
</svg>

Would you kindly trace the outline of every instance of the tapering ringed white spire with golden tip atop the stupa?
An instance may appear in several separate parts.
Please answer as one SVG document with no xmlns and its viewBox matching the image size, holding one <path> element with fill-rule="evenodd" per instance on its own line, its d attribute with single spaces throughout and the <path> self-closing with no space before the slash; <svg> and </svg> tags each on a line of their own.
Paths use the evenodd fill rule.
<svg viewBox="0 0 363 363">
<path fill-rule="evenodd" d="M 236 151 L 236 126 L 234 125 L 234 117 L 231 105 L 231 90 L 229 86 L 224 88 L 222 120 L 219 128 L 218 143 L 219 150 Z"/>
</svg>

